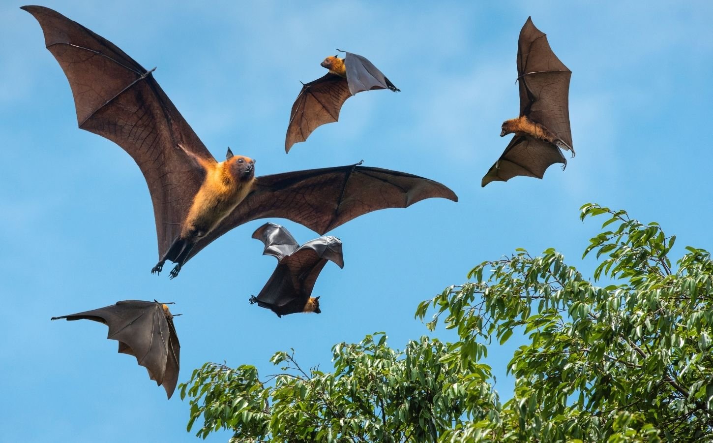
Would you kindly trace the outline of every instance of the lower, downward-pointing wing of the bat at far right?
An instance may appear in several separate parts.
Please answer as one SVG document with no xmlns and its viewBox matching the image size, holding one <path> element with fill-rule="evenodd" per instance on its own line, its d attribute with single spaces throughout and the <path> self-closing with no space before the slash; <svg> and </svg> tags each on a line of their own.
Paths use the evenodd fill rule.
<svg viewBox="0 0 713 443">
<path fill-rule="evenodd" d="M 567 163 L 556 146 L 529 136 L 514 136 L 503 155 L 483 177 L 481 186 L 491 181 L 508 181 L 516 175 L 543 178 L 553 163 Z"/>
</svg>

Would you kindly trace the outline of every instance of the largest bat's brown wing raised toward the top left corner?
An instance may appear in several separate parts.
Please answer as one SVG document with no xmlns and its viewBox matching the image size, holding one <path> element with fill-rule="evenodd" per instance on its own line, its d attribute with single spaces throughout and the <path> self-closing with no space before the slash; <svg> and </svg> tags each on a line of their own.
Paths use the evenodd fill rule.
<svg viewBox="0 0 713 443">
<path fill-rule="evenodd" d="M 47 49 L 72 88 L 79 127 L 108 138 L 133 157 L 153 200 L 158 255 L 180 233 L 203 169 L 215 162 L 153 75 L 81 24 L 42 6 L 23 6 L 39 21 Z"/>
</svg>

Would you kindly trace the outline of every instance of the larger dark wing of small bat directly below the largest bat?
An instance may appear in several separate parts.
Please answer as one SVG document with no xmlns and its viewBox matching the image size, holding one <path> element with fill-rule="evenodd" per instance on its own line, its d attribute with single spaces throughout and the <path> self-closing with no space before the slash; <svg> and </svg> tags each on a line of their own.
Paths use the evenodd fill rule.
<svg viewBox="0 0 713 443">
<path fill-rule="evenodd" d="M 302 312 L 327 260 L 337 263 L 339 268 L 344 267 L 342 242 L 338 238 L 320 237 L 304 243 L 292 255 L 279 261 L 270 280 L 257 295 L 257 304 L 277 315 Z"/>
</svg>

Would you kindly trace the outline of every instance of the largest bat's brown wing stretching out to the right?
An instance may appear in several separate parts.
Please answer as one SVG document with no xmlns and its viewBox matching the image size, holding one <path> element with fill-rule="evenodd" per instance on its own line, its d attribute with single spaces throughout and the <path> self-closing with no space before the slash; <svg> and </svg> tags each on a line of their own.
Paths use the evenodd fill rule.
<svg viewBox="0 0 713 443">
<path fill-rule="evenodd" d="M 232 228 L 258 218 L 287 218 L 322 235 L 359 215 L 407 208 L 435 197 L 458 201 L 441 183 L 381 168 L 350 165 L 262 175 L 255 190 L 196 243 L 190 256 Z"/>
</svg>

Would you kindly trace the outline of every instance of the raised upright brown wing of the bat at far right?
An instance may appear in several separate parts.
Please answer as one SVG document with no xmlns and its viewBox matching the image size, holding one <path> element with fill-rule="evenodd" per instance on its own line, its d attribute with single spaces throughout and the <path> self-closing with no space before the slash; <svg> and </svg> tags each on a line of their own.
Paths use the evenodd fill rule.
<svg viewBox="0 0 713 443">
<path fill-rule="evenodd" d="M 550 48 L 547 36 L 528 17 L 518 40 L 520 116 L 528 116 L 555 133 L 573 151 L 569 92 L 572 71 Z M 574 152 L 574 151 L 573 151 Z"/>
</svg>

